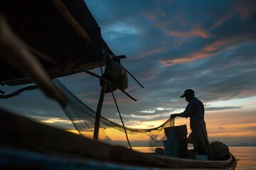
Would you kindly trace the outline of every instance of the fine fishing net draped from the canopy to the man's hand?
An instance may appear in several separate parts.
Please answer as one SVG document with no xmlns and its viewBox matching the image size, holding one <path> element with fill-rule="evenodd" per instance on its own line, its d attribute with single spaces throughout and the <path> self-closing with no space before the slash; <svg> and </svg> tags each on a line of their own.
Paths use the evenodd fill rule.
<svg viewBox="0 0 256 170">
<path fill-rule="evenodd" d="M 63 108 L 63 111 L 72 121 L 75 130 L 78 130 L 80 135 L 92 139 L 96 112 L 80 101 L 80 99 L 68 90 L 58 79 L 54 79 L 53 83 L 68 96 L 69 103 L 68 106 Z M 127 136 L 132 149 L 139 152 L 154 152 L 154 148 L 164 147 L 163 142 L 166 140 L 164 128 L 169 127 L 171 124 L 174 125 L 174 120 L 169 119 L 159 127 L 151 129 L 126 127 Z M 100 117 L 98 139 L 111 145 L 129 146 L 124 127 L 103 116 Z"/>
</svg>

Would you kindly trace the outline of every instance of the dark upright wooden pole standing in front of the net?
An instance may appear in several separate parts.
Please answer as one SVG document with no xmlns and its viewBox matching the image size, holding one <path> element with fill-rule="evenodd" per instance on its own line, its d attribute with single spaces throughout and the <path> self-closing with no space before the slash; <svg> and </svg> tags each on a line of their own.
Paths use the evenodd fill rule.
<svg viewBox="0 0 256 170">
<path fill-rule="evenodd" d="M 100 91 L 100 99 L 97 105 L 96 117 L 95 117 L 95 129 L 93 134 L 93 140 L 98 140 L 99 130 L 100 130 L 100 115 L 102 111 L 102 104 L 104 101 L 105 91 L 106 91 L 107 83 L 102 84 L 102 89 Z"/>
</svg>

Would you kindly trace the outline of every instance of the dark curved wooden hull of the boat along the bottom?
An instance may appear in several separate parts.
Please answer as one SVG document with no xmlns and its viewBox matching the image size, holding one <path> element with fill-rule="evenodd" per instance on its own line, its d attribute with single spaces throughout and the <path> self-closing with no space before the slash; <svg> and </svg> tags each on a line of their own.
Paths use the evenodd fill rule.
<svg viewBox="0 0 256 170">
<path fill-rule="evenodd" d="M 0 111 L 0 169 L 235 169 L 236 159 L 200 161 L 136 152 Z"/>
</svg>

